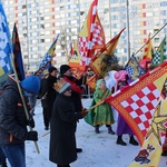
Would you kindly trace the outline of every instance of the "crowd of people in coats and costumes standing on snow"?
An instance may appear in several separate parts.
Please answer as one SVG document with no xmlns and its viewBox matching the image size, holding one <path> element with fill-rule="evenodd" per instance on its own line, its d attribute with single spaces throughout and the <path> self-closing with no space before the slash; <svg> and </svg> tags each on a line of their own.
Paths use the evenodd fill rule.
<svg viewBox="0 0 167 167">
<path fill-rule="evenodd" d="M 109 135 L 117 135 L 117 145 L 126 146 L 122 135 L 128 134 L 129 144 L 138 146 L 128 124 L 105 102 L 105 98 L 130 82 L 128 72 L 108 72 L 108 77 L 98 79 L 89 109 L 81 104 L 86 77 L 84 73 L 76 79 L 68 65 L 61 65 L 60 71 L 56 67 L 45 70 L 41 79 L 35 75 L 22 81 L 8 77 L 0 96 L 0 166 L 7 167 L 8 158 L 11 167 L 26 167 L 24 141 L 38 140 L 38 132 L 32 130 L 37 96 L 42 105 L 43 128 L 50 129 L 49 160 L 58 167 L 70 167 L 77 153 L 82 151 L 76 139 L 77 122 L 82 118 L 95 128 L 95 134 L 105 125 Z M 111 126 L 115 121 L 117 129 Z"/>
</svg>

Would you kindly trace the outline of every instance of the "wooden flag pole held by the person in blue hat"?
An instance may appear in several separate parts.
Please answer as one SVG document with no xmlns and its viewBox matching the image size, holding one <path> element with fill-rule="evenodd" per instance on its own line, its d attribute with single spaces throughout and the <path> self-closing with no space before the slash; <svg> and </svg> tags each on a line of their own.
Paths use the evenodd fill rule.
<svg viewBox="0 0 167 167">
<path fill-rule="evenodd" d="M 16 70 L 14 62 L 13 62 L 14 60 L 12 59 L 11 56 L 10 56 L 10 58 L 11 58 L 11 63 L 12 63 L 12 67 L 13 67 L 13 72 L 14 72 L 14 76 L 16 76 L 18 90 L 19 90 L 19 94 L 20 94 L 20 97 L 21 97 L 23 109 L 24 109 L 24 114 L 26 114 L 27 119 L 29 120 L 28 109 L 27 109 L 26 101 L 24 101 L 24 98 L 23 98 L 23 95 L 22 95 L 22 91 L 21 91 L 21 87 L 19 85 L 18 73 L 17 73 L 17 70 Z M 31 126 L 29 126 L 29 129 L 30 129 L 30 131 L 32 131 L 32 127 Z M 33 143 L 35 143 L 35 147 L 36 147 L 37 153 L 40 154 L 37 141 L 33 141 Z"/>
</svg>

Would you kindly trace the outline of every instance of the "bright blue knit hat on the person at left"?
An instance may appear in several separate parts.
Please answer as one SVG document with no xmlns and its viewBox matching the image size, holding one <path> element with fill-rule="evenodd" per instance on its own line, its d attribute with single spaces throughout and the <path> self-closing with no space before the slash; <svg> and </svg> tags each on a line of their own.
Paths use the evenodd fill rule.
<svg viewBox="0 0 167 167">
<path fill-rule="evenodd" d="M 20 81 L 20 86 L 28 92 L 38 94 L 40 89 L 40 79 L 37 76 L 29 76 Z"/>
</svg>

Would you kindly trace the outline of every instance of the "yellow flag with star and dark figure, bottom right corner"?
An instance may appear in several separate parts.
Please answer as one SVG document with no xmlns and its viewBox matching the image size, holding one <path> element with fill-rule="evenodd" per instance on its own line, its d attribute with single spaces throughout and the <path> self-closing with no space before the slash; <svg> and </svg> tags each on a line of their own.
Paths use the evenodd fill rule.
<svg viewBox="0 0 167 167">
<path fill-rule="evenodd" d="M 157 167 L 167 129 L 167 99 L 161 100 L 154 114 L 145 141 L 130 167 Z"/>
</svg>

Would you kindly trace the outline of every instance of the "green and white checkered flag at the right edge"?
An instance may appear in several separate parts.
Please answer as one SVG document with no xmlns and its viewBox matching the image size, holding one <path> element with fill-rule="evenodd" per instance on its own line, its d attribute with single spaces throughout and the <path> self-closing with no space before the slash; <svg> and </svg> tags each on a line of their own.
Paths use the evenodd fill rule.
<svg viewBox="0 0 167 167">
<path fill-rule="evenodd" d="M 167 37 L 165 37 L 155 52 L 155 56 L 151 60 L 151 67 L 157 67 L 167 60 Z"/>
</svg>

